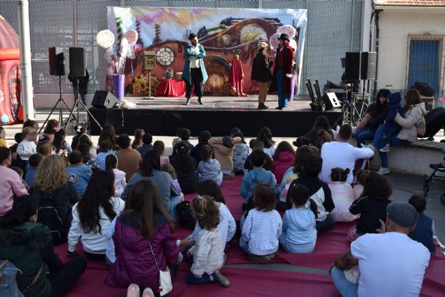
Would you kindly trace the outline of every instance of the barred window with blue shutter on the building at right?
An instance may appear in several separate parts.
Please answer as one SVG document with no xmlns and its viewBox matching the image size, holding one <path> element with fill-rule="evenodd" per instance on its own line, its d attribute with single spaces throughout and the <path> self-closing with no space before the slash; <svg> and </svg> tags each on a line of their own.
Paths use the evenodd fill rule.
<svg viewBox="0 0 445 297">
<path fill-rule="evenodd" d="M 406 88 L 428 83 L 439 96 L 444 89 L 443 35 L 408 35 Z"/>
</svg>

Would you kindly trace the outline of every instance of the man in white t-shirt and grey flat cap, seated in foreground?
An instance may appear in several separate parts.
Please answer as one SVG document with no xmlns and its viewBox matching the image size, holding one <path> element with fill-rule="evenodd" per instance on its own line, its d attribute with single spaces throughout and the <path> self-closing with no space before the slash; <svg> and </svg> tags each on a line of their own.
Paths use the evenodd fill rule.
<svg viewBox="0 0 445 297">
<path fill-rule="evenodd" d="M 350 251 L 332 264 L 331 276 L 341 296 L 419 296 L 430 252 L 407 236 L 419 215 L 407 202 L 387 206 L 386 233 L 364 234 L 353 241 Z M 378 232 L 385 232 L 385 224 Z M 359 266 L 358 284 L 345 272 Z"/>
</svg>

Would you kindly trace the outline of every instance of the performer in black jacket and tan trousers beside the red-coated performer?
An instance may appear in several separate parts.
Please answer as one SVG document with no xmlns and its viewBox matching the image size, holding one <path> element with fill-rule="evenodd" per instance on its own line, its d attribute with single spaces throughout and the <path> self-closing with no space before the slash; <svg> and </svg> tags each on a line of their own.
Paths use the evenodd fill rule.
<svg viewBox="0 0 445 297">
<path fill-rule="evenodd" d="M 258 109 L 268 109 L 268 106 L 266 106 L 264 102 L 266 102 L 268 83 L 272 80 L 270 68 L 273 66 L 273 61 L 269 61 L 269 57 L 264 54 L 267 47 L 267 42 L 259 42 L 258 53 L 252 63 L 252 75 L 250 79 L 258 81 L 259 85 Z"/>
</svg>

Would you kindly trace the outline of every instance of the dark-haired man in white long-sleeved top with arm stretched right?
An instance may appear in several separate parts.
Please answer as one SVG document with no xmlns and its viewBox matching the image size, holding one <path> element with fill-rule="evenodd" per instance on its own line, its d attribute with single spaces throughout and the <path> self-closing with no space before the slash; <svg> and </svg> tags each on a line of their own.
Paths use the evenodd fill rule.
<svg viewBox="0 0 445 297">
<path fill-rule="evenodd" d="M 353 170 L 355 161 L 359 159 L 369 159 L 374 155 L 373 150 L 369 148 L 353 147 L 348 143 L 353 129 L 350 125 L 343 125 L 337 134 L 337 141 L 323 143 L 321 147 L 321 159 L 323 159 L 323 168 L 321 168 L 320 179 L 329 184 L 331 182 L 332 168 L 349 168 L 346 184 L 353 183 Z"/>
</svg>

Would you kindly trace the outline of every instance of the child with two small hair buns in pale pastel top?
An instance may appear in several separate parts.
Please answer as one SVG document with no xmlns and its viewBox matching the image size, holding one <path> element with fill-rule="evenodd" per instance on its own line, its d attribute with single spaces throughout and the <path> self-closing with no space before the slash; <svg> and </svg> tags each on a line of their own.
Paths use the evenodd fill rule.
<svg viewBox="0 0 445 297">
<path fill-rule="evenodd" d="M 337 167 L 331 170 L 331 182 L 328 186 L 331 189 L 332 200 L 335 204 L 332 215 L 336 222 L 352 222 L 358 218 L 349 211 L 349 207 L 353 204 L 355 198 L 353 187 L 346 184 L 348 173 L 349 168 Z"/>
</svg>

